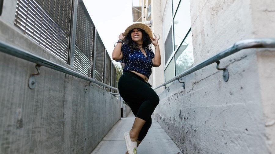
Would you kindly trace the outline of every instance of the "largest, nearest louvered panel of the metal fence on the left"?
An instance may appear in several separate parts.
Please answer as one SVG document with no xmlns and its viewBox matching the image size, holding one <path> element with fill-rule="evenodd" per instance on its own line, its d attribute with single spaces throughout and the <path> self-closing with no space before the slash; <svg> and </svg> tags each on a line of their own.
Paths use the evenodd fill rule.
<svg viewBox="0 0 275 154">
<path fill-rule="evenodd" d="M 18 0 L 14 24 L 46 50 L 67 62 L 68 33 L 37 2 Z"/>
</svg>

